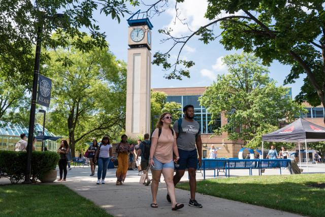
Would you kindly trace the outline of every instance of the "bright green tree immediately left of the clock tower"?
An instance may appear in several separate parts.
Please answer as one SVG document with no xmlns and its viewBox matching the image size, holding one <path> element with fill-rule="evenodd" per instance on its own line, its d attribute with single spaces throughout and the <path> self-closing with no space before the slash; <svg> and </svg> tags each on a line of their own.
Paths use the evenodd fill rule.
<svg viewBox="0 0 325 217">
<path fill-rule="evenodd" d="M 107 48 L 82 53 L 74 46 L 75 40 L 88 39 L 73 39 L 69 47 L 49 51 L 51 61 L 44 69 L 53 79 L 53 122 L 49 129 L 64 125 L 73 156 L 77 143 L 124 128 L 126 96 L 125 63 L 116 60 Z M 57 61 L 68 57 L 73 61 L 71 66 Z M 56 132 L 61 129 L 56 128 Z"/>
</svg>

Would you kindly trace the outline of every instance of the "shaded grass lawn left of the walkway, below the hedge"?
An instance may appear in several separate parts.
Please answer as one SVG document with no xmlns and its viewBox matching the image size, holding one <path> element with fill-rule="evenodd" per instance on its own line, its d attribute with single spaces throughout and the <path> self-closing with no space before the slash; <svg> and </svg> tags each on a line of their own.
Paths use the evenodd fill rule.
<svg viewBox="0 0 325 217">
<path fill-rule="evenodd" d="M 0 185 L 0 216 L 113 216 L 61 184 Z"/>
</svg>

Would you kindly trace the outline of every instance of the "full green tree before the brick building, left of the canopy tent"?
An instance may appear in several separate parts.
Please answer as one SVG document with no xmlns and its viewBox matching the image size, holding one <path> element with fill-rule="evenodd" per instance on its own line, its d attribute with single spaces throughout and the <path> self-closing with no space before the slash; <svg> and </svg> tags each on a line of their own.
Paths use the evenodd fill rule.
<svg viewBox="0 0 325 217">
<path fill-rule="evenodd" d="M 243 140 L 249 147 L 262 143 L 262 134 L 277 130 L 279 122 L 291 121 L 304 108 L 286 97 L 288 89 L 275 86 L 268 69 L 252 54 L 242 53 L 223 58 L 228 74 L 218 75 L 204 92 L 200 102 L 214 119 L 220 112 L 228 123 L 215 130 L 228 133 L 230 140 Z"/>
</svg>

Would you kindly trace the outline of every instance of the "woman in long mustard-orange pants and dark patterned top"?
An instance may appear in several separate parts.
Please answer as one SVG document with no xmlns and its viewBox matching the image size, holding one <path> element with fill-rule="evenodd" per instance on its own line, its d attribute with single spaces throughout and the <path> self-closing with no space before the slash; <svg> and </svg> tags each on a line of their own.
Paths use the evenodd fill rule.
<svg viewBox="0 0 325 217">
<path fill-rule="evenodd" d="M 121 142 L 116 146 L 117 154 L 117 170 L 116 170 L 116 185 L 124 183 L 127 168 L 128 168 L 128 156 L 131 151 L 131 145 L 127 143 L 127 136 L 123 134 L 121 136 Z"/>
</svg>

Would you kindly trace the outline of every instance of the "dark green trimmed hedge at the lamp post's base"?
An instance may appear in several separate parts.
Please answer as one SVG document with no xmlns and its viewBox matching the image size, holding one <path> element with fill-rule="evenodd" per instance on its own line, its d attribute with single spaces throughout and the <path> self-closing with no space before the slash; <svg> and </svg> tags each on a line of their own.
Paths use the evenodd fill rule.
<svg viewBox="0 0 325 217">
<path fill-rule="evenodd" d="M 59 155 L 51 151 L 33 151 L 31 154 L 32 180 L 36 181 L 48 171 L 56 168 Z M 17 183 L 24 179 L 26 172 L 26 151 L 0 150 L 0 178 L 5 176 L 11 183 Z"/>
</svg>

